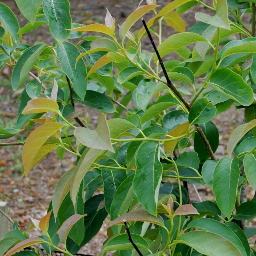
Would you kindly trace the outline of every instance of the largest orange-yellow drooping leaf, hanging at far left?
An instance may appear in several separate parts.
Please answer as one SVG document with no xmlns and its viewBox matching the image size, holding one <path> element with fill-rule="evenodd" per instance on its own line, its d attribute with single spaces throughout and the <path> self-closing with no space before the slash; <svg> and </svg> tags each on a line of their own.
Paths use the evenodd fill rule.
<svg viewBox="0 0 256 256">
<path fill-rule="evenodd" d="M 60 123 L 50 122 L 39 126 L 29 134 L 22 151 L 22 162 L 26 176 L 33 166 L 35 166 L 35 157 L 40 153 L 40 148 L 44 142 L 63 126 Z"/>
</svg>

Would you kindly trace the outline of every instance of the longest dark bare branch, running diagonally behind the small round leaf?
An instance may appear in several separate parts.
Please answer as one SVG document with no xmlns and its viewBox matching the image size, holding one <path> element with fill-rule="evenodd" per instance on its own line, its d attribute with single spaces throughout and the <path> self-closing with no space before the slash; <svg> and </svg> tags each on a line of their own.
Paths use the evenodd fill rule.
<svg viewBox="0 0 256 256">
<path fill-rule="evenodd" d="M 172 82 L 171 82 L 171 80 L 170 80 L 170 78 L 169 78 L 169 76 L 168 76 L 168 74 L 167 74 L 167 71 L 166 71 L 166 69 L 165 69 L 165 67 L 164 67 L 163 60 L 162 60 L 162 58 L 161 58 L 161 56 L 160 56 L 160 54 L 159 54 L 159 52 L 158 52 L 158 50 L 157 50 L 157 48 L 156 48 L 156 44 L 154 43 L 154 40 L 153 40 L 153 38 L 152 38 L 152 36 L 151 36 L 151 34 L 150 34 L 150 31 L 148 30 L 147 24 L 146 24 L 146 22 L 145 22 L 145 20 L 144 20 L 143 18 L 142 18 L 142 23 L 143 23 L 143 25 L 144 25 L 144 28 L 146 29 L 146 32 L 147 32 L 148 37 L 149 37 L 149 40 L 150 40 L 150 42 L 151 42 L 151 44 L 152 44 L 152 46 L 153 46 L 153 48 L 154 48 L 154 50 L 155 50 L 155 52 L 156 52 L 156 56 L 157 56 L 157 58 L 158 58 L 158 60 L 159 60 L 159 63 L 160 63 L 161 68 L 162 68 L 162 70 L 163 70 L 164 76 L 165 76 L 165 78 L 166 78 L 167 86 L 175 93 L 175 95 L 182 101 L 182 103 L 186 106 L 186 108 L 187 108 L 188 111 L 189 111 L 189 110 L 191 109 L 191 105 L 188 103 L 187 100 L 185 100 L 185 99 L 183 98 L 183 96 L 180 94 L 180 92 L 179 92 L 179 91 L 175 88 L 175 86 L 172 84 Z M 207 138 L 206 138 L 206 136 L 205 136 L 203 130 L 202 130 L 201 127 L 199 126 L 199 124 L 195 124 L 195 130 L 196 130 L 196 132 L 198 132 L 198 134 L 199 134 L 200 137 L 202 138 L 202 140 L 203 140 L 203 142 L 204 142 L 204 145 L 205 145 L 205 147 L 206 147 L 206 149 L 207 149 L 209 155 L 211 156 L 212 160 L 216 160 L 216 158 L 214 157 L 214 153 L 213 153 L 213 151 L 212 151 L 211 145 L 210 145 L 209 141 L 207 140 Z"/>
</svg>

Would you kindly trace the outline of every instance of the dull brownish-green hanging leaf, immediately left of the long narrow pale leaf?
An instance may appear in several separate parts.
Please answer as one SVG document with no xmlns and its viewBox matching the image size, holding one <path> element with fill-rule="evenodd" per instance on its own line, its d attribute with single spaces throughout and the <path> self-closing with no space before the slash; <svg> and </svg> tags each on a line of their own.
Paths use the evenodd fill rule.
<svg viewBox="0 0 256 256">
<path fill-rule="evenodd" d="M 70 169 L 67 172 L 65 172 L 60 177 L 60 179 L 56 184 L 56 187 L 52 196 L 52 210 L 53 210 L 55 220 L 57 218 L 57 213 L 59 211 L 60 205 L 62 204 L 65 196 L 67 196 L 68 191 L 70 189 L 73 171 L 74 169 Z"/>
</svg>

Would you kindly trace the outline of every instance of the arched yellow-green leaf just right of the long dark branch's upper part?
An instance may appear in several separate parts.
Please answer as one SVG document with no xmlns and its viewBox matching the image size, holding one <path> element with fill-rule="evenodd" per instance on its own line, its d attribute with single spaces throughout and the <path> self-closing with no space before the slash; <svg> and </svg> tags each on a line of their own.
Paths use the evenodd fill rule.
<svg viewBox="0 0 256 256">
<path fill-rule="evenodd" d="M 157 50 L 161 58 L 163 58 L 165 55 L 174 52 L 183 46 L 201 41 L 207 42 L 207 40 L 203 36 L 200 36 L 196 33 L 183 32 L 169 36 L 167 39 L 164 40 L 163 43 L 159 44 Z M 156 62 L 156 56 L 154 57 L 154 60 Z"/>
</svg>

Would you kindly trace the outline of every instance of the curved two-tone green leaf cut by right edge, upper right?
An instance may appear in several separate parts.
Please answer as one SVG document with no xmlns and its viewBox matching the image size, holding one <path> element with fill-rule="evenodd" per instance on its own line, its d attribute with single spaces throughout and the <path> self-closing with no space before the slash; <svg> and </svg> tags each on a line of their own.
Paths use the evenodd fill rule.
<svg viewBox="0 0 256 256">
<path fill-rule="evenodd" d="M 220 59 L 228 57 L 231 54 L 250 52 L 255 53 L 256 39 L 254 37 L 242 40 L 232 40 L 228 42 L 220 51 Z"/>
</svg>

